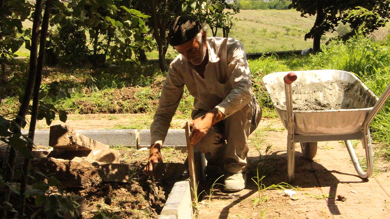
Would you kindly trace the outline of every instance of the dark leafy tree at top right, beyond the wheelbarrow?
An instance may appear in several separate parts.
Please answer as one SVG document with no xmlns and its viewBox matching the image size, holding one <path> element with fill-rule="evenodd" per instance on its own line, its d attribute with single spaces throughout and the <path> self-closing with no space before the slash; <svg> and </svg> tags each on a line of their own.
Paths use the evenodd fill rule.
<svg viewBox="0 0 390 219">
<path fill-rule="evenodd" d="M 389 19 L 390 0 L 292 0 L 289 8 L 301 12 L 302 17 L 316 16 L 305 40 L 313 39 L 313 51 L 320 51 L 321 36 L 333 32 L 337 25 L 350 23 L 352 31 L 365 23 L 367 32 L 385 25 Z M 370 13 L 369 13 L 370 12 Z"/>
</svg>

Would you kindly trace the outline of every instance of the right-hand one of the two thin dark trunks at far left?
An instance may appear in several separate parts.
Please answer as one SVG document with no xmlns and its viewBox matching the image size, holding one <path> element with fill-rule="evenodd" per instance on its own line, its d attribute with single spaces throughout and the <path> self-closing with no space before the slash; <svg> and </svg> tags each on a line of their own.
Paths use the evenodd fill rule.
<svg viewBox="0 0 390 219">
<path fill-rule="evenodd" d="M 46 37 L 49 28 L 49 18 L 50 18 L 50 9 L 51 9 L 51 0 L 46 1 L 45 12 L 43 14 L 42 19 L 42 27 L 41 27 L 41 36 L 39 42 L 39 57 L 37 60 L 37 69 L 34 83 L 34 94 L 32 100 L 32 111 L 31 111 L 31 120 L 30 120 L 30 129 L 28 130 L 28 138 L 31 138 L 32 142 L 29 143 L 28 149 L 32 151 L 32 146 L 34 142 L 34 134 L 35 134 L 35 126 L 37 124 L 38 117 L 38 108 L 39 108 L 39 90 L 41 88 L 42 81 L 42 69 L 44 64 L 45 57 L 45 47 L 46 47 Z M 26 158 L 23 164 L 23 176 L 21 178 L 20 185 L 20 219 L 23 219 L 23 215 L 25 212 L 25 204 L 26 204 L 26 190 L 27 190 L 27 181 L 28 175 L 30 172 L 31 160 Z"/>
</svg>

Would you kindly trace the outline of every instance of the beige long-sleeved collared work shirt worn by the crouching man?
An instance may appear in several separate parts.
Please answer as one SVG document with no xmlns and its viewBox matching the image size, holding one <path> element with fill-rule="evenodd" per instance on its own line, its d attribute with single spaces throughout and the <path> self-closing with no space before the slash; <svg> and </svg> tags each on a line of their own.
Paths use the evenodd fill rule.
<svg viewBox="0 0 390 219">
<path fill-rule="evenodd" d="M 151 144 L 163 145 L 184 85 L 194 97 L 195 109 L 217 108 L 225 118 L 251 102 L 254 94 L 243 45 L 233 38 L 208 37 L 207 46 L 204 79 L 182 55 L 171 62 L 151 124 Z"/>
</svg>

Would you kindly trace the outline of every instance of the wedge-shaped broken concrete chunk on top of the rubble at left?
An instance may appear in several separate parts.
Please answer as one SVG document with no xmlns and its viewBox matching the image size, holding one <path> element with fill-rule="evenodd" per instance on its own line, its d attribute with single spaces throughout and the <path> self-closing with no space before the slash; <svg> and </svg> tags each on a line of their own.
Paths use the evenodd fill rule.
<svg viewBox="0 0 390 219">
<path fill-rule="evenodd" d="M 110 147 L 77 133 L 66 125 L 50 127 L 49 146 L 58 150 L 108 150 Z"/>
</svg>

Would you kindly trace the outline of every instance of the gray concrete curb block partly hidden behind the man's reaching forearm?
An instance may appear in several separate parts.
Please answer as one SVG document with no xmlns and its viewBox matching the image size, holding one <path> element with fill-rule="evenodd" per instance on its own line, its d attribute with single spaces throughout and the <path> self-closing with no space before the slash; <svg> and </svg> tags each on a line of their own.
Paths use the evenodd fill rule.
<svg viewBox="0 0 390 219">
<path fill-rule="evenodd" d="M 139 136 L 139 148 L 150 148 L 150 129 L 141 129 Z M 186 132 L 184 129 L 169 129 L 163 147 L 175 147 L 175 149 L 187 150 Z"/>
</svg>

